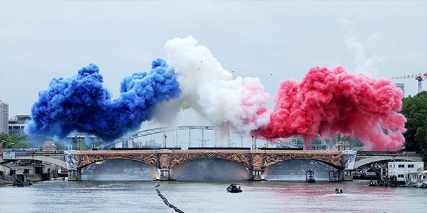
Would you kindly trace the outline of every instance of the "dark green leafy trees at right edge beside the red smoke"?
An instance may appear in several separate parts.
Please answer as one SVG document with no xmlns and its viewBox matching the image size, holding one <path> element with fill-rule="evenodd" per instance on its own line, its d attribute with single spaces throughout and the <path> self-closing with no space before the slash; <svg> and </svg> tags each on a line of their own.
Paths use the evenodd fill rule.
<svg viewBox="0 0 427 213">
<path fill-rule="evenodd" d="M 405 151 L 424 151 L 427 161 L 427 91 L 405 97 L 402 100 L 402 113 L 407 121 L 405 128 Z"/>
</svg>

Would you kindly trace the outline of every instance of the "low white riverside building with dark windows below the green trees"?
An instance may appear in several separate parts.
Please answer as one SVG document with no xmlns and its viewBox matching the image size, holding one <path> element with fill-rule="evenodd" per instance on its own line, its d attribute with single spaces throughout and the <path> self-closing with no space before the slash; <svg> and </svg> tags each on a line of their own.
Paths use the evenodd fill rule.
<svg viewBox="0 0 427 213">
<path fill-rule="evenodd" d="M 409 173 L 413 173 L 418 169 L 422 170 L 424 168 L 424 162 L 392 161 L 389 162 L 387 166 L 389 175 L 396 175 L 397 180 L 403 182 L 407 178 L 410 178 Z"/>
</svg>

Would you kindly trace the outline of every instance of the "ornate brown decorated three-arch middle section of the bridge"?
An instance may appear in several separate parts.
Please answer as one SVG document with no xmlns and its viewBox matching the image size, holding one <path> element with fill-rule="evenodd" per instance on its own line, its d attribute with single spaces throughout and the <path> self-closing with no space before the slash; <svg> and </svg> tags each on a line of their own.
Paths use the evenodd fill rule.
<svg viewBox="0 0 427 213">
<path fill-rule="evenodd" d="M 95 150 L 66 151 L 68 180 L 80 180 L 80 170 L 97 161 L 130 159 L 160 169 L 160 180 L 170 180 L 170 169 L 187 161 L 204 158 L 225 159 L 248 168 L 252 180 L 262 180 L 262 170 L 291 159 L 313 159 L 340 171 L 352 169 L 356 152 L 316 150 Z"/>
</svg>

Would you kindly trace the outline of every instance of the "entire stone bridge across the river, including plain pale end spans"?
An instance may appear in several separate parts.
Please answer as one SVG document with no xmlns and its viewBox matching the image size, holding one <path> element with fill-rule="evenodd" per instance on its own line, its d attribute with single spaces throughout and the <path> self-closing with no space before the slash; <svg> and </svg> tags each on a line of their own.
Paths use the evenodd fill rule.
<svg viewBox="0 0 427 213">
<path fill-rule="evenodd" d="M 217 158 L 237 162 L 252 172 L 253 180 L 262 180 L 262 170 L 281 161 L 291 159 L 313 159 L 329 164 L 340 171 L 351 171 L 375 162 L 422 161 L 417 152 L 356 152 L 317 150 L 93 150 L 58 152 L 16 152 L 15 159 L 3 159 L 0 155 L 0 171 L 8 173 L 3 164 L 21 159 L 38 160 L 68 168 L 68 180 L 80 180 L 80 170 L 85 166 L 107 159 L 130 159 L 160 169 L 160 179 L 169 180 L 170 169 L 188 161 Z M 344 175 L 346 176 L 346 174 Z"/>
</svg>

